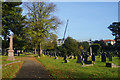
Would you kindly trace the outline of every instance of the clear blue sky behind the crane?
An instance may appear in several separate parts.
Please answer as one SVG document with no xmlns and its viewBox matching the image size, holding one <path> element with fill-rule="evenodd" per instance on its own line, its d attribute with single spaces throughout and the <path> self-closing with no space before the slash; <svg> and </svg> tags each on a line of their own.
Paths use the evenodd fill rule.
<svg viewBox="0 0 120 80">
<path fill-rule="evenodd" d="M 117 2 L 53 3 L 56 5 L 54 15 L 63 22 L 57 31 L 58 39 L 63 38 L 67 19 L 66 37 L 70 36 L 78 41 L 114 39 L 107 27 L 118 21 Z"/>
</svg>

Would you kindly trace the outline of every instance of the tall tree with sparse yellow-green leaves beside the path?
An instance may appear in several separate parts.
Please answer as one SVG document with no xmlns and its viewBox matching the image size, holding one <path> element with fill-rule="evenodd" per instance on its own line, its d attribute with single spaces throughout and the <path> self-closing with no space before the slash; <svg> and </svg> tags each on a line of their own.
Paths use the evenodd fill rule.
<svg viewBox="0 0 120 80">
<path fill-rule="evenodd" d="M 42 54 L 41 43 L 44 41 L 45 37 L 50 35 L 51 30 L 56 30 L 60 24 L 57 17 L 52 16 L 55 11 L 56 5 L 53 3 L 45 2 L 33 2 L 31 4 L 26 4 L 28 8 L 27 14 L 27 34 L 35 46 L 39 47 L 39 55 Z"/>
</svg>

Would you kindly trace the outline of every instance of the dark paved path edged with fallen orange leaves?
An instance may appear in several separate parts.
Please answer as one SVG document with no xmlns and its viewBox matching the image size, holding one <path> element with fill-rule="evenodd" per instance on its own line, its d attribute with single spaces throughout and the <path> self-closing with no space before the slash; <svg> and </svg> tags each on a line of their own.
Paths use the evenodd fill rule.
<svg viewBox="0 0 120 80">
<path fill-rule="evenodd" d="M 22 60 L 24 60 L 25 62 L 19 72 L 16 74 L 16 78 L 50 79 L 48 72 L 34 57 L 26 57 Z"/>
</svg>

